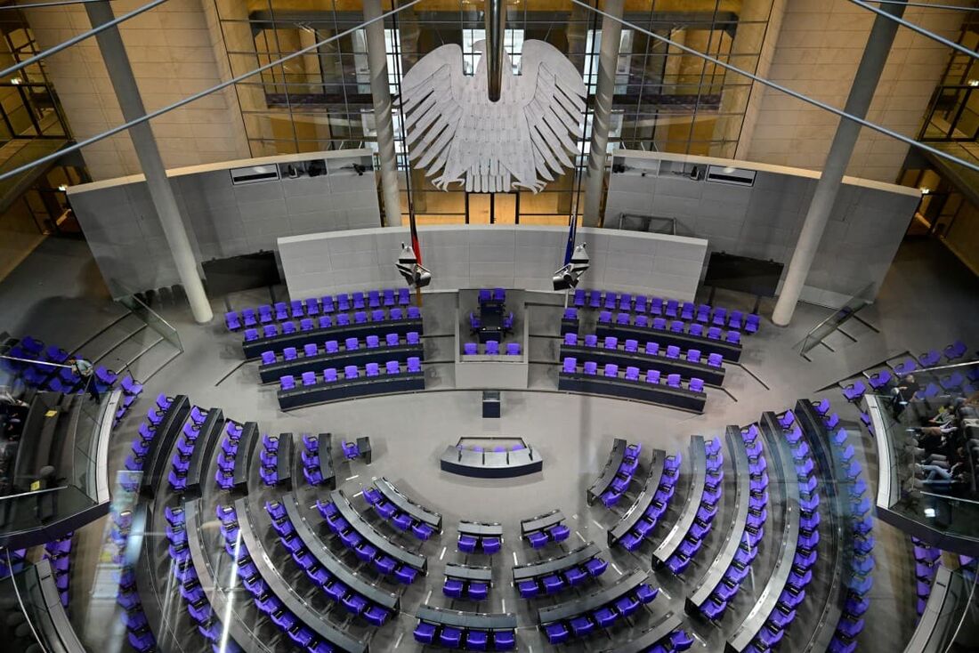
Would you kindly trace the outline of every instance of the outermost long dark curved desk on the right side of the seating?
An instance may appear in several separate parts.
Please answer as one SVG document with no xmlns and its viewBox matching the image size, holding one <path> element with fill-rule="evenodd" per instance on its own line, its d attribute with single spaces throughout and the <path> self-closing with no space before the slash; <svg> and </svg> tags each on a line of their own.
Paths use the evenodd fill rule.
<svg viewBox="0 0 979 653">
<path fill-rule="evenodd" d="M 853 525 L 850 520 L 850 499 L 847 495 L 853 482 L 847 479 L 842 463 L 833 455 L 829 431 L 816 407 L 813 406 L 813 402 L 809 399 L 799 399 L 795 405 L 795 416 L 816 458 L 816 468 L 821 472 L 820 476 L 824 480 L 821 484 L 822 498 L 832 504 L 826 511 L 829 513 L 827 521 L 832 535 L 828 537 L 830 540 L 828 554 L 832 556 L 832 575 L 829 577 L 829 589 L 816 629 L 805 649 L 821 653 L 828 650 L 829 642 L 836 632 L 853 576 Z M 831 483 L 828 482 L 830 479 Z M 827 538 L 820 541 L 825 539 Z M 825 555 L 827 552 L 823 549 L 821 553 Z M 825 573 L 825 563 L 820 566 L 820 569 Z"/>
</svg>

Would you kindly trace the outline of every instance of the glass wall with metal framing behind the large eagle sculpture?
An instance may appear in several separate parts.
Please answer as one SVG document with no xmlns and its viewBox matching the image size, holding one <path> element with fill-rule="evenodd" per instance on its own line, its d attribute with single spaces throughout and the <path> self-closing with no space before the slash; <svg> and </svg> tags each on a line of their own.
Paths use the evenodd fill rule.
<svg viewBox="0 0 979 653">
<path fill-rule="evenodd" d="M 228 61 L 235 74 L 254 70 L 361 23 L 359 2 L 214 0 Z M 392 5 L 383 3 L 385 10 Z M 567 53 L 594 92 L 601 17 L 568 0 L 530 0 L 509 5 L 505 45 L 514 71 L 530 39 Z M 625 20 L 676 43 L 746 70 L 757 68 L 768 27 L 770 0 L 629 0 Z M 426 0 L 385 23 L 393 94 L 400 78 L 421 57 L 445 43 L 463 51 L 467 74 L 476 67 L 473 44 L 484 37 L 482 4 Z M 733 157 L 747 106 L 750 80 L 668 46 L 637 29 L 624 28 L 617 66 L 609 150 L 633 148 Z M 238 84 L 252 155 L 373 147 L 374 120 L 365 37 L 356 29 L 286 65 Z M 583 116 L 576 167 L 538 194 L 495 196 L 437 190 L 409 170 L 404 133 L 395 132 L 401 170 L 402 212 L 422 223 L 521 222 L 565 224 L 582 205 L 582 177 L 591 129 L 591 102 Z"/>
</svg>

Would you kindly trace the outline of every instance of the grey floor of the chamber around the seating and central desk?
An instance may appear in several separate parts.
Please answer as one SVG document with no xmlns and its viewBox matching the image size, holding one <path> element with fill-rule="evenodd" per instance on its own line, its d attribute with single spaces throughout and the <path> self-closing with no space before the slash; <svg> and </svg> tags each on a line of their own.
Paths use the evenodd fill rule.
<svg viewBox="0 0 979 653">
<path fill-rule="evenodd" d="M 137 360 L 133 368 L 137 378 L 141 374 L 153 374 L 147 382 L 147 396 L 187 394 L 201 406 L 221 407 L 227 417 L 239 421 L 255 420 L 263 432 L 330 431 L 337 437 L 347 438 L 368 435 L 374 443 L 374 463 L 365 466 L 354 462 L 350 466 L 349 472 L 342 477 L 346 479 L 343 487 L 348 494 L 356 494 L 375 476 L 386 476 L 414 500 L 443 514 L 445 529 L 442 536 L 420 547 L 430 560 L 428 581 L 415 583 L 406 591 L 402 599 L 405 614 L 395 624 L 375 633 L 373 644 L 376 650 L 420 650 L 410 636 L 414 625 L 410 615 L 425 600 L 464 610 L 499 611 L 505 605 L 506 610 L 518 614 L 522 626 L 518 634 L 521 650 L 539 650 L 545 645 L 533 627 L 535 613 L 526 601 L 517 597 L 507 578 L 515 561 L 524 563 L 559 551 L 553 548 L 540 554 L 523 545 L 518 536 L 519 520 L 560 508 L 573 530 L 572 539 L 564 545 L 566 549 L 590 539 L 603 544 L 604 530 L 617 516 L 601 506 L 587 506 L 584 489 L 599 472 L 613 437 L 624 437 L 630 442 L 668 451 L 685 449 L 691 434 L 713 436 L 722 434 L 727 424 L 749 424 L 764 410 L 783 410 L 800 396 L 816 398 L 820 396 L 818 389 L 905 351 L 942 347 L 956 339 L 975 346 L 979 343 L 977 290 L 976 278 L 941 246 L 928 241 L 906 243 L 878 301 L 862 312 L 864 319 L 879 333 L 859 322 L 851 322 L 844 330 L 852 338 L 834 334 L 826 341 L 832 350 L 819 347 L 811 353 L 812 361 L 809 361 L 798 354 L 798 344 L 806 332 L 831 311 L 801 304 L 793 325 L 784 329 L 765 320 L 761 331 L 747 341 L 740 366 L 728 368 L 723 391 L 709 389 L 708 406 L 703 415 L 628 401 L 558 394 L 553 392 L 555 368 L 536 364 L 532 366 L 532 390 L 505 392 L 502 418 L 483 420 L 478 394 L 452 390 L 452 368 L 444 363 L 427 365 L 427 383 L 433 392 L 358 399 L 285 413 L 278 409 L 274 388 L 257 384 L 256 364 L 242 362 L 240 337 L 226 333 L 219 317 L 207 326 L 194 324 L 189 310 L 179 304 L 163 305 L 162 313 L 178 330 L 184 352 L 158 372 L 156 370 L 167 356 L 163 355 L 163 347 L 151 350 L 163 353 L 155 353 L 155 359 L 147 354 Z M 284 295 L 281 289 L 277 292 Z M 559 301 L 546 296 L 529 299 Z M 267 303 L 269 295 L 265 291 L 250 291 L 228 300 L 235 307 L 243 307 Z M 454 328 L 451 318 L 446 319 L 448 311 L 444 310 L 450 303 L 454 303 L 454 298 L 426 296 L 425 342 L 430 360 L 447 360 L 453 354 L 454 343 L 445 337 Z M 716 303 L 750 309 L 752 301 L 719 292 Z M 84 244 L 62 240 L 45 243 L 12 276 L 0 283 L 0 305 L 4 306 L 0 314 L 0 330 L 18 335 L 30 333 L 68 349 L 82 344 L 92 349 L 106 349 L 100 343 L 112 344 L 110 332 L 95 340 L 92 337 L 107 327 L 112 329 L 114 322 L 124 315 L 124 310 L 117 304 L 108 302 Z M 220 315 L 224 303 L 215 300 L 213 307 Z M 763 302 L 763 315 L 769 314 L 770 309 L 770 303 Z M 531 359 L 555 359 L 559 309 L 556 306 L 552 311 L 535 308 L 533 315 Z M 138 336 L 126 338 L 125 347 L 112 350 L 112 355 L 128 359 L 154 342 L 154 338 L 155 332 L 145 330 Z M 825 396 L 833 400 L 845 420 L 856 423 L 856 412 L 844 404 L 838 392 L 830 391 Z M 145 411 L 148 402 L 137 403 L 136 412 Z M 129 417 L 117 430 L 112 449 L 115 465 L 121 465 L 138 421 L 135 415 Z M 857 433 L 857 429 L 852 429 L 852 433 Z M 475 481 L 441 472 L 438 458 L 444 446 L 470 435 L 519 436 L 541 451 L 544 469 L 517 482 Z M 872 443 L 864 438 L 863 444 L 862 456 L 872 471 L 876 458 Z M 872 477 L 871 474 L 871 481 Z M 250 500 L 258 508 L 259 501 L 270 493 L 273 492 L 254 491 Z M 220 500 L 216 493 L 206 497 L 211 503 Z M 311 497 L 307 498 L 311 503 Z M 360 509 L 365 507 L 362 497 L 355 499 L 355 505 Z M 677 505 L 675 510 L 679 507 Z M 459 518 L 499 521 L 506 530 L 504 550 L 491 561 L 494 587 L 489 600 L 478 606 L 463 601 L 452 603 L 440 591 L 441 566 L 445 562 L 465 560 L 454 547 L 455 524 Z M 719 518 L 718 528 L 723 529 L 728 522 L 723 515 Z M 670 524 L 672 520 L 668 519 L 666 523 Z M 387 527 L 382 524 L 379 528 Z M 667 530 L 657 531 L 654 540 L 665 536 Z M 91 648 L 113 651 L 121 645 L 124 631 L 117 626 L 104 628 L 104 615 L 114 610 L 112 597 L 99 598 L 99 592 L 94 591 L 96 556 L 93 551 L 99 550 L 103 533 L 98 525 L 93 525 L 80 536 L 83 545 L 79 548 L 84 563 L 72 581 L 72 619 L 83 630 Z M 387 533 L 396 537 L 391 529 Z M 766 537 L 770 538 L 773 533 L 774 530 L 769 529 Z M 882 523 L 875 527 L 875 535 L 879 542 L 876 549 L 878 564 L 861 648 L 901 650 L 914 623 L 908 540 Z M 716 553 L 723 533 L 715 533 L 712 537 L 707 543 L 705 557 Z M 401 541 L 406 545 L 417 545 L 409 539 Z M 634 569 L 648 570 L 651 551 L 652 547 L 646 544 L 636 555 L 611 552 L 609 557 L 614 566 L 610 566 L 601 583 L 613 583 L 620 573 Z M 765 555 L 768 553 L 763 552 L 763 557 Z M 470 556 L 469 562 L 485 564 L 489 560 Z M 756 564 L 757 570 L 769 567 L 761 558 Z M 749 590 L 757 590 L 765 580 L 752 579 Z M 651 604 L 651 614 L 634 621 L 635 630 L 647 627 L 656 616 L 682 610 L 682 583 L 662 573 L 657 573 L 654 583 L 662 586 L 664 593 Z M 163 583 L 162 586 L 168 585 Z M 88 592 L 88 587 L 93 587 L 94 593 Z M 396 586 L 389 588 L 394 590 Z M 432 590 L 430 597 L 429 590 Z M 162 615 L 161 619 L 169 624 L 167 629 L 177 633 L 187 630 L 186 618 L 181 614 L 183 608 L 179 598 L 174 599 L 172 587 L 154 600 L 158 601 L 157 611 Z M 548 599 L 541 599 L 533 607 L 547 602 Z M 744 610 L 747 609 L 746 606 Z M 246 611 L 242 619 L 249 622 L 250 614 Z M 725 620 L 723 630 L 729 629 L 730 624 Z M 720 650 L 721 630 L 692 622 L 691 630 L 700 639 L 698 650 Z M 585 645 L 572 647 L 572 650 L 599 650 L 626 641 L 631 630 L 612 632 L 613 639 L 607 643 L 601 636 L 592 637 Z M 176 640 L 183 642 L 180 649 L 186 646 L 186 650 L 203 650 L 203 640 L 196 634 L 177 635 Z M 168 647 L 178 648 L 175 644 Z"/>
</svg>

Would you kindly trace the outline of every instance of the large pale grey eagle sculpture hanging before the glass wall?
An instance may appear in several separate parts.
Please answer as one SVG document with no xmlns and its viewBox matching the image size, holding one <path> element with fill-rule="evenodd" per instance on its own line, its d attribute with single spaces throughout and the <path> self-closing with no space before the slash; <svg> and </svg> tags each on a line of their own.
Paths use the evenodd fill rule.
<svg viewBox="0 0 979 653">
<path fill-rule="evenodd" d="M 483 43 L 474 47 L 482 50 Z M 539 176 L 553 179 L 548 168 L 560 173 L 562 164 L 573 164 L 565 150 L 578 151 L 581 76 L 542 41 L 525 42 L 523 57 L 521 76 L 513 75 L 506 58 L 498 102 L 489 102 L 485 57 L 467 77 L 458 45 L 433 50 L 404 75 L 406 144 L 426 176 L 441 171 L 432 180 L 437 188 L 464 183 L 476 193 L 514 186 L 537 192 L 545 183 Z"/>
</svg>

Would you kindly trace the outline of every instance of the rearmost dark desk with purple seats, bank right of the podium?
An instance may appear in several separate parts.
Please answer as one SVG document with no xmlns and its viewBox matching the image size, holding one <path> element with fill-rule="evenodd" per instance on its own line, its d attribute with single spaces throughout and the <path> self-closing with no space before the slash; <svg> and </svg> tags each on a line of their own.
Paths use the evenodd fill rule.
<svg viewBox="0 0 979 653">
<path fill-rule="evenodd" d="M 737 361 L 741 357 L 740 340 L 737 339 L 738 342 L 731 342 L 736 340 L 736 337 L 730 337 L 730 341 L 722 338 L 723 334 L 718 327 L 710 327 L 704 331 L 703 325 L 692 324 L 687 331 L 684 331 L 682 328 L 676 330 L 676 325 L 674 325 L 674 328 L 668 328 L 669 325 L 662 317 L 653 318 L 648 321 L 646 319 L 640 319 L 643 317 L 643 315 L 639 315 L 635 318 L 635 322 L 623 324 L 620 321 L 613 321 L 611 319 L 604 321 L 599 316 L 599 321 L 595 325 L 595 335 L 598 338 L 615 336 L 622 341 L 631 339 L 640 343 L 651 340 L 658 343 L 660 347 L 670 347 L 673 345 L 680 348 L 680 350 L 699 350 L 705 356 L 709 356 L 712 353 L 720 353 L 724 360 L 732 362 Z M 682 322 L 679 325 L 682 326 Z M 563 330 L 562 336 L 568 331 L 574 331 L 575 333 L 581 331 L 578 320 L 563 320 L 561 328 Z"/>
</svg>

